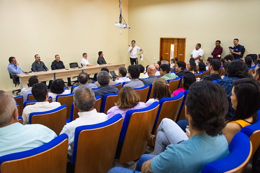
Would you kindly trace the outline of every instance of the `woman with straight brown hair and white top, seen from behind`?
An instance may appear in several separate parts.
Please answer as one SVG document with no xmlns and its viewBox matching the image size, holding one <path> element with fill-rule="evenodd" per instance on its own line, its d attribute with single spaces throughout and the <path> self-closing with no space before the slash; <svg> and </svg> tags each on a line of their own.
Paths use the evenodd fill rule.
<svg viewBox="0 0 260 173">
<path fill-rule="evenodd" d="M 145 104 L 151 105 L 154 101 L 158 101 L 161 98 L 171 97 L 171 91 L 169 90 L 169 84 L 164 78 L 156 78 L 152 83 L 152 98 L 150 98 Z"/>
</svg>

